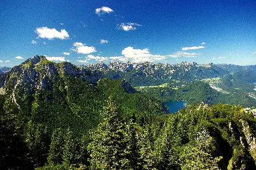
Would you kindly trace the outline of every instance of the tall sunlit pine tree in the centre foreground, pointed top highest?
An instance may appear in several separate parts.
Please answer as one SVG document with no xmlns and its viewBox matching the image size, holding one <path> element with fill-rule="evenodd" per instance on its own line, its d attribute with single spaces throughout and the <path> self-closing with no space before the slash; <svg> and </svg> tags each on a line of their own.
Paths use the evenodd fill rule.
<svg viewBox="0 0 256 170">
<path fill-rule="evenodd" d="M 134 128 L 124 123 L 112 97 L 101 112 L 103 121 L 90 131 L 88 145 L 92 169 L 135 169 Z"/>
</svg>

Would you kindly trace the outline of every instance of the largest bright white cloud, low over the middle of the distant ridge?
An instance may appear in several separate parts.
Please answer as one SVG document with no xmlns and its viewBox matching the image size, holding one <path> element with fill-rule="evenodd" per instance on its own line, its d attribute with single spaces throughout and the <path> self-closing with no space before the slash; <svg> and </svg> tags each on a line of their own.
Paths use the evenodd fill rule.
<svg viewBox="0 0 256 170">
<path fill-rule="evenodd" d="M 126 47 L 122 50 L 122 54 L 132 62 L 154 62 L 166 59 L 166 56 L 153 55 L 149 53 L 148 49 L 133 49 L 133 47 Z"/>
</svg>

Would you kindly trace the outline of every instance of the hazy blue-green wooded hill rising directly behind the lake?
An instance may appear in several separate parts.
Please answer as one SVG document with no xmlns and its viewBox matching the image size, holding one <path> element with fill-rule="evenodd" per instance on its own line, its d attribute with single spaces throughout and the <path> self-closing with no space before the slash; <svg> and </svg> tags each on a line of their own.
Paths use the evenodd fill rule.
<svg viewBox="0 0 256 170">
<path fill-rule="evenodd" d="M 170 87 L 163 88 L 145 88 L 139 89 L 143 94 L 147 94 L 151 97 L 158 98 L 163 102 L 173 101 L 188 101 L 189 105 L 199 102 L 205 102 L 207 104 L 237 104 L 243 107 L 252 107 L 256 105 L 253 98 L 248 95 L 237 92 L 235 94 L 223 94 L 210 87 L 210 85 L 202 81 L 193 81 L 185 85 L 183 88 L 172 89 Z"/>
</svg>

